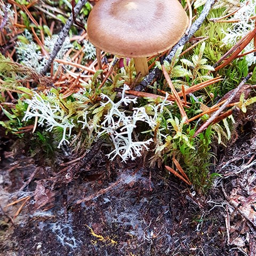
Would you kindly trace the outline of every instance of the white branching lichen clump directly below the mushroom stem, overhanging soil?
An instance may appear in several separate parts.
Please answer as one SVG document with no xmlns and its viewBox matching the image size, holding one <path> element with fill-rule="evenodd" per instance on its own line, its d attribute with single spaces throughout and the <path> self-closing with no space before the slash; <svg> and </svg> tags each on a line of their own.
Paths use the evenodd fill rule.
<svg viewBox="0 0 256 256">
<path fill-rule="evenodd" d="M 163 101 L 160 105 L 149 105 L 154 111 L 154 115 L 148 115 L 145 107 L 133 108 L 132 115 L 127 114 L 124 110 L 121 110 L 122 105 L 129 105 L 130 103 L 136 103 L 137 99 L 129 99 L 125 97 L 125 90 L 129 89 L 128 86 L 124 86 L 122 92 L 122 98 L 118 102 L 113 102 L 107 95 L 102 94 L 102 99 L 107 99 L 107 102 L 102 102 L 102 106 L 111 104 L 111 108 L 105 115 L 104 121 L 101 123 L 101 131 L 99 135 L 103 133 L 109 134 L 110 139 L 113 141 L 114 150 L 107 156 L 113 160 L 116 156 L 120 156 L 122 161 L 126 162 L 127 159 L 134 160 L 141 156 L 143 149 L 149 150 L 148 145 L 153 142 L 153 138 L 146 141 L 138 141 L 134 138 L 134 129 L 137 127 L 138 122 L 147 123 L 149 127 L 154 130 L 157 125 L 158 115 L 162 113 L 163 107 L 169 105 Z M 166 95 L 167 97 L 167 95 Z"/>
</svg>

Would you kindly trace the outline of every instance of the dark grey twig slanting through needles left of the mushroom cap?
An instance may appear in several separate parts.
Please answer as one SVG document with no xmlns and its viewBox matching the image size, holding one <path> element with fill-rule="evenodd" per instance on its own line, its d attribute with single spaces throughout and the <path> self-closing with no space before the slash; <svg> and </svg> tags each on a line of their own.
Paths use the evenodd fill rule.
<svg viewBox="0 0 256 256">
<path fill-rule="evenodd" d="M 85 3 L 87 2 L 87 0 L 79 0 L 79 2 L 77 3 L 77 5 L 74 8 L 74 14 L 77 15 L 83 8 L 83 6 L 85 5 Z M 73 19 L 73 13 L 70 14 L 70 17 L 68 18 L 65 26 L 62 28 L 60 34 L 59 34 L 59 38 L 56 42 L 56 44 L 54 45 L 54 49 L 49 57 L 49 60 L 46 62 L 44 68 L 41 70 L 41 74 L 45 75 L 46 72 L 49 70 L 50 66 L 52 65 L 53 60 L 55 59 L 56 55 L 58 54 L 58 52 L 61 49 L 61 46 L 63 44 L 63 42 L 65 41 L 65 38 L 68 35 L 68 31 L 70 29 L 70 27 L 73 25 L 74 19 Z"/>
</svg>

